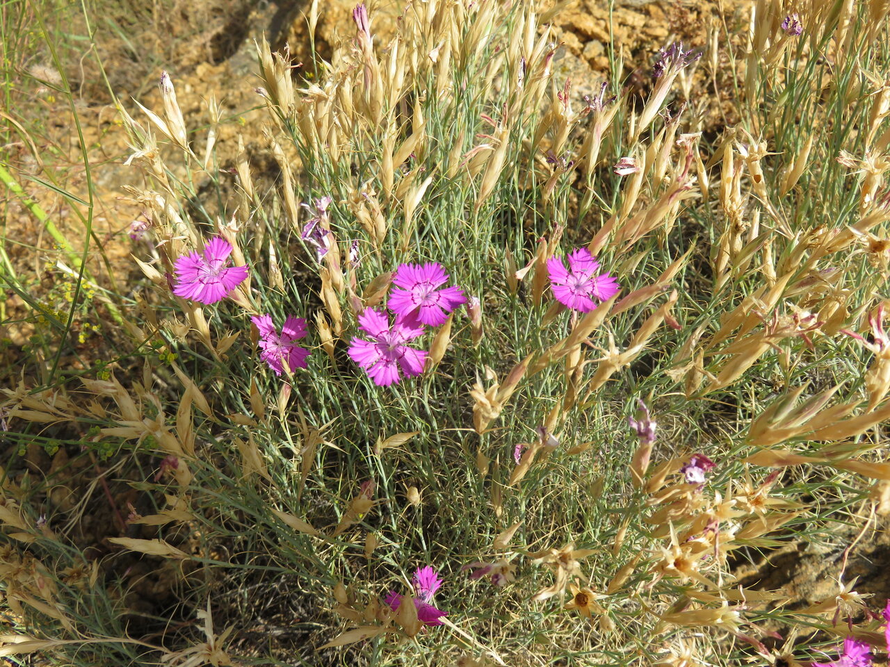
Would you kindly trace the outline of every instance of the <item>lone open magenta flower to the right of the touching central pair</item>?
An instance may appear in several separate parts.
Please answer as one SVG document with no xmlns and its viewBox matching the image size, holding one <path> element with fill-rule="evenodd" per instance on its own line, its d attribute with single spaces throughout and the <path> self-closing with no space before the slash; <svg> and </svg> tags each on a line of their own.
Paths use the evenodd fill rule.
<svg viewBox="0 0 890 667">
<path fill-rule="evenodd" d="M 587 248 L 578 248 L 569 255 L 569 269 L 558 257 L 547 260 L 550 288 L 556 301 L 582 313 L 596 308 L 597 301 L 608 301 L 619 292 L 618 280 L 600 273 L 600 262 Z"/>
</svg>

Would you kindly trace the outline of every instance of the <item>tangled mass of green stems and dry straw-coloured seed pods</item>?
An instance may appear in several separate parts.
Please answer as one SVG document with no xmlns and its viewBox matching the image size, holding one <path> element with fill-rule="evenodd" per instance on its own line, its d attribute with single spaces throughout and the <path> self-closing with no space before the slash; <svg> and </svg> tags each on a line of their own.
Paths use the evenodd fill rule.
<svg viewBox="0 0 890 667">
<path fill-rule="evenodd" d="M 359 5 L 312 76 L 257 45 L 273 189 L 243 142 L 231 169 L 217 155 L 214 98 L 197 127 L 166 75 L 158 108 L 121 102 L 144 278 L 112 288 L 63 239 L 70 305 L 53 309 L 4 250 L 36 331 L 0 404 L 0 655 L 679 667 L 807 663 L 848 635 L 883 650 L 883 605 L 845 559 L 815 607 L 733 576 L 789 542 L 844 549 L 890 511 L 888 6 L 793 9 L 760 0 L 743 38 L 666 47 L 639 101 L 617 61 L 578 99 L 529 4 L 408 4 L 388 44 Z M 91 202 L 71 203 L 87 242 Z M 193 255 L 187 275 L 181 258 L 217 237 L 247 277 L 204 299 L 182 283 L 220 264 Z M 592 309 L 554 299 L 577 248 L 619 285 Z M 410 343 L 422 373 L 378 382 L 356 339 L 425 262 L 466 303 Z M 76 312 L 103 323 L 99 365 L 68 363 Z M 308 330 L 299 363 L 286 317 Z M 50 470 L 28 468 L 35 446 Z M 84 469 L 89 493 L 66 502 Z M 85 545 L 103 504 L 113 525 Z M 412 581 L 428 566 L 441 588 Z M 135 605 L 161 578 L 172 601 Z"/>
</svg>

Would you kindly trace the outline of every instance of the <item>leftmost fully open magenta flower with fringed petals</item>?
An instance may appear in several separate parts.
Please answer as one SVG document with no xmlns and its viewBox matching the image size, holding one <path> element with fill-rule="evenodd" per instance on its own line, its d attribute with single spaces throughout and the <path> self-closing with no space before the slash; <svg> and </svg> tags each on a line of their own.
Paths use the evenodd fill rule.
<svg viewBox="0 0 890 667">
<path fill-rule="evenodd" d="M 220 237 L 211 238 L 198 253 L 182 255 L 175 261 L 177 285 L 173 293 L 183 299 L 209 305 L 225 299 L 247 279 L 246 266 L 227 266 L 231 245 Z"/>
</svg>

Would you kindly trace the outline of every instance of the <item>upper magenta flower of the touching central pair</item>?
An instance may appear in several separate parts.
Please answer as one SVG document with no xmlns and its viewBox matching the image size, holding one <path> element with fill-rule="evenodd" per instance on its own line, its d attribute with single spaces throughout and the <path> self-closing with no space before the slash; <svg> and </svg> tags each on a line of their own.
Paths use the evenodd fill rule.
<svg viewBox="0 0 890 667">
<path fill-rule="evenodd" d="M 460 287 L 440 288 L 448 277 L 441 264 L 434 261 L 423 265 L 400 264 L 392 277 L 392 285 L 402 289 L 392 290 L 387 305 L 406 320 L 416 317 L 424 325 L 444 324 L 449 312 L 466 302 Z"/>
</svg>

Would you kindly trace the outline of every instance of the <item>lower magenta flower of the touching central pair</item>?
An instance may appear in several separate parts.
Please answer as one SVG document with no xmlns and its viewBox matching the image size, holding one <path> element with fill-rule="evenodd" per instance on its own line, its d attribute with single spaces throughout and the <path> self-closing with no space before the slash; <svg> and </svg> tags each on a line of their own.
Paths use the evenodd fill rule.
<svg viewBox="0 0 890 667">
<path fill-rule="evenodd" d="M 424 327 L 417 321 L 397 318 L 391 326 L 382 311 L 368 308 L 359 316 L 359 325 L 371 340 L 353 337 L 349 356 L 378 387 L 398 384 L 401 374 L 413 377 L 423 373 L 426 352 L 405 344 L 424 333 Z"/>
</svg>

